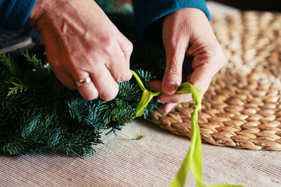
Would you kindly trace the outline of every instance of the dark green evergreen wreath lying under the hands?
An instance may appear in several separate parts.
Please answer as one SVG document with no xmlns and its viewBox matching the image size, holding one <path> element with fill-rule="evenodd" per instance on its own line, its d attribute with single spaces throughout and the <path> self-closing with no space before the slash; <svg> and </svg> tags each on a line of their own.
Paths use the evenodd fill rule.
<svg viewBox="0 0 281 187">
<path fill-rule="evenodd" d="M 108 11 L 112 22 L 135 44 L 131 69 L 147 88 L 154 78 L 162 78 L 165 53 L 162 45 L 141 46 L 136 39 L 133 14 Z M 122 8 L 121 8 L 122 9 Z M 125 7 L 126 9 L 126 7 Z M 126 21 L 125 21 L 126 20 Z M 129 34 L 129 35 L 128 35 Z M 33 155 L 44 150 L 63 151 L 84 158 L 93 155 L 93 145 L 107 130 L 116 132 L 136 117 L 142 90 L 135 78 L 119 83 L 115 99 L 86 100 L 77 90 L 69 90 L 56 78 L 46 62 L 27 50 L 20 55 L 0 55 L 0 154 Z M 145 109 L 157 109 L 152 99 Z"/>
</svg>

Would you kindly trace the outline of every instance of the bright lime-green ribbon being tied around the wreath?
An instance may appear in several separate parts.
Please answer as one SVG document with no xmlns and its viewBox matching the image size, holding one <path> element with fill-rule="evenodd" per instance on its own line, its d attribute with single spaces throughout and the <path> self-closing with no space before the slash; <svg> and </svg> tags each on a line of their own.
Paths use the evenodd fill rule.
<svg viewBox="0 0 281 187">
<path fill-rule="evenodd" d="M 141 78 L 139 78 L 138 74 L 135 71 L 132 71 L 133 76 L 136 78 L 138 85 L 140 85 L 141 90 L 143 90 L 143 94 L 141 95 L 141 100 L 136 107 L 136 116 L 142 116 L 145 111 L 145 107 L 148 106 L 148 103 L 155 96 L 162 95 L 162 91 L 152 92 L 147 90 L 143 83 L 141 82 Z M 186 176 L 188 175 L 188 169 L 190 167 L 191 172 L 195 178 L 197 186 L 204 186 L 202 184 L 202 141 L 200 136 L 200 129 L 197 122 L 198 119 L 198 111 L 201 109 L 202 97 L 203 94 L 201 90 L 195 88 L 190 83 L 182 83 L 178 90 L 177 94 L 189 94 L 191 93 L 192 100 L 194 106 L 192 107 L 193 113 L 191 115 L 191 137 L 190 137 L 190 148 L 188 150 L 183 163 L 181 164 L 178 173 L 176 174 L 174 180 L 171 182 L 171 187 L 181 187 L 185 184 Z M 210 185 L 208 187 L 235 187 L 236 185 L 230 184 L 218 184 L 218 185 Z"/>
</svg>

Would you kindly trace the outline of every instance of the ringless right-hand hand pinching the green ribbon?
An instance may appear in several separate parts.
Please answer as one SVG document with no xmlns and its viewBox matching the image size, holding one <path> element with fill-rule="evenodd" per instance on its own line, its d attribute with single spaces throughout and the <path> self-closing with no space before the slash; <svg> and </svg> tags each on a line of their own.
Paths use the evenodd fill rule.
<svg viewBox="0 0 281 187">
<path fill-rule="evenodd" d="M 197 8 L 183 8 L 166 15 L 162 26 L 166 50 L 166 69 L 162 81 L 152 81 L 152 90 L 162 90 L 157 99 L 168 113 L 179 102 L 190 101 L 191 95 L 175 94 L 182 82 L 188 81 L 206 92 L 211 78 L 223 67 L 225 57 L 211 30 L 207 16 Z M 193 69 L 187 74 L 188 64 Z"/>
</svg>

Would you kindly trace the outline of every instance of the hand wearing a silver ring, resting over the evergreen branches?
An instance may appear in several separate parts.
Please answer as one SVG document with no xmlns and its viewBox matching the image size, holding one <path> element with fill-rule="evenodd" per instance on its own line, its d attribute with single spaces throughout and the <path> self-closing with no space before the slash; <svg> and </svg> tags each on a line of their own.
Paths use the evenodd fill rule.
<svg viewBox="0 0 281 187">
<path fill-rule="evenodd" d="M 93 0 L 38 0 L 29 20 L 44 41 L 48 63 L 61 83 L 91 76 L 78 88 L 85 99 L 114 99 L 117 82 L 129 81 L 132 43 Z"/>
</svg>

